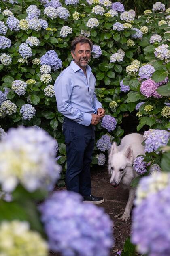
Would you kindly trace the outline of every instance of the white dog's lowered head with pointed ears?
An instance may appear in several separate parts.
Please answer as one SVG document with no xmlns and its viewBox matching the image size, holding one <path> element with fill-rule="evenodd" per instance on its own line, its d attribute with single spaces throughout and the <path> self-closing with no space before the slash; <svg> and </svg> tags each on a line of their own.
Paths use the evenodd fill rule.
<svg viewBox="0 0 170 256">
<path fill-rule="evenodd" d="M 128 146 L 124 151 L 118 151 L 117 145 L 114 142 L 109 158 L 108 158 L 108 172 L 111 176 L 110 183 L 113 187 L 117 187 L 125 174 L 125 168 L 133 164 L 133 150 L 132 146 Z"/>
</svg>

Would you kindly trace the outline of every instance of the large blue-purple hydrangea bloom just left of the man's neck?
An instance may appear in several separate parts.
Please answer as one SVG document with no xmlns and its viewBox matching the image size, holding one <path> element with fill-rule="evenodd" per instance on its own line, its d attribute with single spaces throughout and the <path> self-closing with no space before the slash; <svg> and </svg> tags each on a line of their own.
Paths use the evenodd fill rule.
<svg viewBox="0 0 170 256">
<path fill-rule="evenodd" d="M 47 64 L 55 71 L 62 67 L 62 61 L 54 50 L 47 51 L 41 58 L 41 65 Z"/>
</svg>

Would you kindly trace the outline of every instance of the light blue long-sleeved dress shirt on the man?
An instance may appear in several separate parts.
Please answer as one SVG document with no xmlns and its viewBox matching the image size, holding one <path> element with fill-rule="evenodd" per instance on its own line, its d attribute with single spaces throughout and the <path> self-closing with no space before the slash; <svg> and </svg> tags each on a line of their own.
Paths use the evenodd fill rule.
<svg viewBox="0 0 170 256">
<path fill-rule="evenodd" d="M 96 113 L 102 104 L 96 97 L 96 79 L 89 65 L 86 74 L 87 78 L 83 70 L 72 61 L 57 77 L 54 89 L 58 111 L 79 124 L 89 126 L 91 114 Z"/>
</svg>

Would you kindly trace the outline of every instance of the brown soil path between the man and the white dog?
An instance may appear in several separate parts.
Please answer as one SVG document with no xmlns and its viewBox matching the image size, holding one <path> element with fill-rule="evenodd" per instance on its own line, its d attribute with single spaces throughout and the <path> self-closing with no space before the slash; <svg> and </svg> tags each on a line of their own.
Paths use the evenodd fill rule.
<svg viewBox="0 0 170 256">
<path fill-rule="evenodd" d="M 110 185 L 110 177 L 106 167 L 91 171 L 91 184 L 92 195 L 101 196 L 105 199 L 105 202 L 99 204 L 98 207 L 103 207 L 114 222 L 115 246 L 111 249 L 110 256 L 116 256 L 116 252 L 123 249 L 125 240 L 130 235 L 131 222 L 121 221 L 121 215 L 128 199 L 128 190 L 124 190 L 121 185 L 116 189 Z M 60 254 L 51 252 L 49 256 L 60 256 Z"/>
</svg>

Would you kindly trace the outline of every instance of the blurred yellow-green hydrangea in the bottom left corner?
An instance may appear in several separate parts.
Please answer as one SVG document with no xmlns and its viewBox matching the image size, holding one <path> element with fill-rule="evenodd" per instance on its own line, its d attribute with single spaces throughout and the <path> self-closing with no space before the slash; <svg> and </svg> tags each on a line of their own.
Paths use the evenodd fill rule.
<svg viewBox="0 0 170 256">
<path fill-rule="evenodd" d="M 26 221 L 2 221 L 0 251 L 3 255 L 47 256 L 48 246 L 38 232 L 30 230 Z"/>
</svg>

